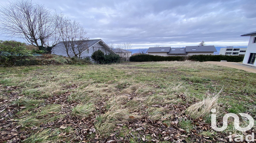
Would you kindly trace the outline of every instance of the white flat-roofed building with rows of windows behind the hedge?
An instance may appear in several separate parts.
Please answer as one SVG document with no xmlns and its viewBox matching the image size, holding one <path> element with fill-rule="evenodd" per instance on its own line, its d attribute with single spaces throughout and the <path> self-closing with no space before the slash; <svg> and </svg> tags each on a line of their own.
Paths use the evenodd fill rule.
<svg viewBox="0 0 256 143">
<path fill-rule="evenodd" d="M 227 46 L 226 48 L 221 48 L 219 54 L 222 55 L 245 55 L 247 48 L 234 48 L 233 46 Z"/>
</svg>

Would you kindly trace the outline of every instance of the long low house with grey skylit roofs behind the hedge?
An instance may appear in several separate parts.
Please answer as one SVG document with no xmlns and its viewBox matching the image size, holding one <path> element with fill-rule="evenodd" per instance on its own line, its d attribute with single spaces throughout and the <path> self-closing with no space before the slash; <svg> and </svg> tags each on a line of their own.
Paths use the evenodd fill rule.
<svg viewBox="0 0 256 143">
<path fill-rule="evenodd" d="M 214 46 L 186 46 L 185 48 L 150 47 L 147 50 L 147 54 L 161 56 L 213 55 L 214 52 L 217 52 Z"/>
</svg>

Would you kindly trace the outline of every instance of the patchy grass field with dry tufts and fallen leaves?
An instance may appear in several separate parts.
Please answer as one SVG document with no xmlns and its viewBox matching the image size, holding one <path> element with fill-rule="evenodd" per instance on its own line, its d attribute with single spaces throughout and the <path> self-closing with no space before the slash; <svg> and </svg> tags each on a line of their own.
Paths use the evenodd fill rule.
<svg viewBox="0 0 256 143">
<path fill-rule="evenodd" d="M 225 142 L 246 133 L 212 130 L 210 110 L 255 119 L 255 80 L 201 62 L 1 67 L 0 142 Z"/>
</svg>

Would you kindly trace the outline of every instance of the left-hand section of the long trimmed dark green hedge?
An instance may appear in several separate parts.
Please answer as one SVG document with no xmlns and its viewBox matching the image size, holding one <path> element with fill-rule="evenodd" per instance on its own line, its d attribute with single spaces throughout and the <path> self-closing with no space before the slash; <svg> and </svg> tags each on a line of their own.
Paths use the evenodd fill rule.
<svg viewBox="0 0 256 143">
<path fill-rule="evenodd" d="M 159 62 L 159 61 L 184 61 L 185 56 L 160 56 L 150 54 L 138 54 L 130 57 L 131 62 Z"/>
</svg>

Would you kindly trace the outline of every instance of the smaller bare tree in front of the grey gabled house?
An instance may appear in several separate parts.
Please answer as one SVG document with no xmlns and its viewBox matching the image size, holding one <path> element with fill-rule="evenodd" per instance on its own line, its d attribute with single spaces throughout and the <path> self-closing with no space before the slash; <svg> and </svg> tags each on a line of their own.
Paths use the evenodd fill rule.
<svg viewBox="0 0 256 143">
<path fill-rule="evenodd" d="M 81 53 L 88 48 L 86 40 L 89 37 L 86 37 L 87 32 L 84 27 L 79 22 L 70 20 L 62 13 L 56 13 L 56 19 L 57 32 L 60 35 L 59 40 L 63 41 L 68 57 L 80 58 Z"/>
</svg>

